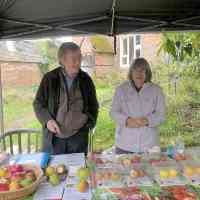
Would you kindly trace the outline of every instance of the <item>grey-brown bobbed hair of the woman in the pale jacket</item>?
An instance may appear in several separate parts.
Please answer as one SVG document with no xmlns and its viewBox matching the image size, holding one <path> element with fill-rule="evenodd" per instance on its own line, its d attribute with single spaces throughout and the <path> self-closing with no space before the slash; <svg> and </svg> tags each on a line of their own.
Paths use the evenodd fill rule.
<svg viewBox="0 0 200 200">
<path fill-rule="evenodd" d="M 145 70 L 145 82 L 151 82 L 152 71 L 148 61 L 145 58 L 136 58 L 129 68 L 128 79 L 133 80 L 132 76 L 134 70 L 137 68 L 143 68 Z"/>
</svg>

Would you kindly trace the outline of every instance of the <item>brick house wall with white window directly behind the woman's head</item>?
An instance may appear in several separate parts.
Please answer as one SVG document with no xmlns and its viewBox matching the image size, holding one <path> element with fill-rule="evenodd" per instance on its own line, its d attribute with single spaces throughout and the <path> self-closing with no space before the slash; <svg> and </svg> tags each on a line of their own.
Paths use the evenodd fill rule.
<svg viewBox="0 0 200 200">
<path fill-rule="evenodd" d="M 117 37 L 117 55 L 115 65 L 127 69 L 133 59 L 146 58 L 153 66 L 161 61 L 158 49 L 161 44 L 161 34 L 126 34 Z"/>
</svg>

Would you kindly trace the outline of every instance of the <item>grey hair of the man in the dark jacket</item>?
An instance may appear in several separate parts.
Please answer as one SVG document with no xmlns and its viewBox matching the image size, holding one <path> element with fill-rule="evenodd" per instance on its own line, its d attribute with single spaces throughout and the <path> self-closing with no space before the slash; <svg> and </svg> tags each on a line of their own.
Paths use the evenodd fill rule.
<svg viewBox="0 0 200 200">
<path fill-rule="evenodd" d="M 80 47 L 74 42 L 62 43 L 58 49 L 58 54 L 57 54 L 59 63 L 61 58 L 64 56 L 64 54 L 67 53 L 67 51 L 78 51 L 78 50 L 80 50 Z"/>
</svg>

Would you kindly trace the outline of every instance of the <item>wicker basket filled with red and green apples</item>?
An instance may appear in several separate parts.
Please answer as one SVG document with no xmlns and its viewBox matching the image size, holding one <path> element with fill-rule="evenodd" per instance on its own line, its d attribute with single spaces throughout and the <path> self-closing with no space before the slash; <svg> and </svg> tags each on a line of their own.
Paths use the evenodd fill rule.
<svg viewBox="0 0 200 200">
<path fill-rule="evenodd" d="M 0 200 L 17 200 L 31 195 L 42 176 L 41 168 L 30 164 L 0 167 Z"/>
</svg>

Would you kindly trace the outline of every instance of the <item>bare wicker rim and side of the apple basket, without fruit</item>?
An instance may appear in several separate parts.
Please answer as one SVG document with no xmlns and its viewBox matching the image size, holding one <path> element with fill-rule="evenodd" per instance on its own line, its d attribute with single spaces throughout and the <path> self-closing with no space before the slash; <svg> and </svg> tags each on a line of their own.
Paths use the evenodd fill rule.
<svg viewBox="0 0 200 200">
<path fill-rule="evenodd" d="M 24 197 L 31 195 L 35 192 L 38 185 L 41 183 L 43 171 L 38 166 L 33 166 L 33 165 L 23 165 L 23 166 L 26 169 L 34 170 L 35 175 L 37 177 L 36 181 L 33 184 L 31 184 L 27 187 L 24 187 L 20 190 L 17 190 L 17 191 L 0 192 L 0 200 L 20 200 L 20 199 L 23 199 Z"/>
</svg>

